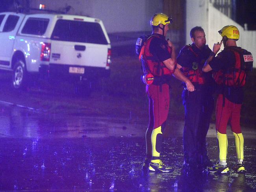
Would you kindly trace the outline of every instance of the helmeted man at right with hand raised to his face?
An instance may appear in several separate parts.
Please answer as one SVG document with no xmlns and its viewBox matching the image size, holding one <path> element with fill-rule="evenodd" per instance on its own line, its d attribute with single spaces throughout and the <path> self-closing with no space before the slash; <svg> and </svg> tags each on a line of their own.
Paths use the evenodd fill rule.
<svg viewBox="0 0 256 192">
<path fill-rule="evenodd" d="M 230 120 L 230 126 L 235 137 L 237 164 L 235 170 L 238 173 L 245 172 L 243 163 L 243 134 L 240 127 L 240 111 L 243 102 L 243 86 L 245 85 L 246 71 L 252 69 L 252 54 L 241 47 L 237 47 L 239 30 L 236 26 L 224 26 L 219 33 L 223 37 L 221 43 L 213 46 L 213 53 L 207 59 L 203 71 L 215 71 L 214 79 L 219 85 L 216 103 L 216 131 L 219 143 L 219 161 L 209 167 L 212 173 L 227 174 L 229 172 L 226 162 L 228 139 L 226 127 Z M 217 57 L 215 54 L 220 50 L 221 44 L 224 50 Z"/>
</svg>

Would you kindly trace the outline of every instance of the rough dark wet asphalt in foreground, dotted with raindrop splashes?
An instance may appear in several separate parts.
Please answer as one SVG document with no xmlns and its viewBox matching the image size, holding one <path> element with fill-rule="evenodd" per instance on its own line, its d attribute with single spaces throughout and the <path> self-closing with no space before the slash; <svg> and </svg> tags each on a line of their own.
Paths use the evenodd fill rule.
<svg viewBox="0 0 256 192">
<path fill-rule="evenodd" d="M 175 168 L 173 173 L 143 175 L 142 138 L 1 138 L 0 187 L 30 191 L 250 191 L 255 185 L 251 169 L 251 178 L 234 172 L 186 174 L 178 155 L 181 139 L 176 144 L 173 147 L 171 140 L 166 140 L 163 152 L 163 161 Z M 177 155 L 168 153 L 170 147 Z"/>
</svg>

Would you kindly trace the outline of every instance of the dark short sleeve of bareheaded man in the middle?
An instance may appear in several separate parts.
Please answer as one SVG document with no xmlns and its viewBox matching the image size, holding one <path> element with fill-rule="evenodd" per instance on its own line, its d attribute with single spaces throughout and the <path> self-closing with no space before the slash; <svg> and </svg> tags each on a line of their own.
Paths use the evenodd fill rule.
<svg viewBox="0 0 256 192">
<path fill-rule="evenodd" d="M 189 48 L 182 48 L 180 54 L 177 57 L 177 63 L 182 67 L 189 67 L 193 62 L 194 55 Z"/>
</svg>

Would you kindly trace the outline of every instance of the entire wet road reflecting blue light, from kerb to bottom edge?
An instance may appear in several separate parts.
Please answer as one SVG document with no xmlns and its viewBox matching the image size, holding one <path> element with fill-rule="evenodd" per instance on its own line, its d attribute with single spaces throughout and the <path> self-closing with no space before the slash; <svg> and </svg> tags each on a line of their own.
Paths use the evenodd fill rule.
<svg viewBox="0 0 256 192">
<path fill-rule="evenodd" d="M 62 114 L 0 103 L 1 191 L 256 191 L 255 130 L 244 127 L 247 173 L 236 174 L 236 148 L 228 132 L 230 175 L 182 168 L 183 122 L 169 124 L 163 162 L 174 171 L 145 174 L 146 120 Z M 214 127 L 214 125 L 211 125 Z M 208 153 L 217 160 L 215 131 Z"/>
</svg>

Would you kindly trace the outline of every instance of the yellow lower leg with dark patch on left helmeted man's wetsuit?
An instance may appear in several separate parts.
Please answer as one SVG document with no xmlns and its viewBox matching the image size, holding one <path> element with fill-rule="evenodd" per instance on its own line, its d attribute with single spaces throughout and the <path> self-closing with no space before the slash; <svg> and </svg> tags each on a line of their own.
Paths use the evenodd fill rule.
<svg viewBox="0 0 256 192">
<path fill-rule="evenodd" d="M 161 126 L 153 129 L 151 135 L 151 142 L 152 142 L 152 160 L 151 162 L 160 162 L 160 149 L 162 143 L 162 136 L 163 133 L 161 131 Z"/>
</svg>

